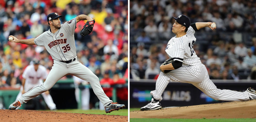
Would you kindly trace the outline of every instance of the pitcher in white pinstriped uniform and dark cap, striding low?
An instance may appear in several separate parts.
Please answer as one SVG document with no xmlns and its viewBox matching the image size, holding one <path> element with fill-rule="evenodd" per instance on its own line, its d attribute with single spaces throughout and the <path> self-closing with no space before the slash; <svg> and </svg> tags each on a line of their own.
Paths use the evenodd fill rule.
<svg viewBox="0 0 256 122">
<path fill-rule="evenodd" d="M 209 79 L 206 67 L 195 54 L 193 50 L 196 41 L 195 31 L 203 27 L 214 30 L 216 27 L 211 25 L 215 23 L 197 22 L 190 24 L 189 18 L 185 15 L 173 18 L 175 23 L 172 32 L 176 36 L 169 40 L 165 48 L 165 52 L 173 62 L 160 66 L 161 73 L 157 78 L 155 90 L 150 92 L 153 98 L 149 104 L 141 108 L 141 111 L 162 108 L 159 101 L 162 100 L 161 95 L 169 82 L 191 83 L 214 100 L 248 101 L 256 99 L 256 92 L 252 88 L 248 88 L 245 92 L 218 89 Z"/>
</svg>

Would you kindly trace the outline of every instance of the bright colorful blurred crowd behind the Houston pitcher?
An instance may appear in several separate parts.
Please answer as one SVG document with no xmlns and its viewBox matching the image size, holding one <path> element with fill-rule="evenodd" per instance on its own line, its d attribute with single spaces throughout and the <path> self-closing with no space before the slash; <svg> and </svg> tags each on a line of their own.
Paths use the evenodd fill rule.
<svg viewBox="0 0 256 122">
<path fill-rule="evenodd" d="M 22 73 L 34 58 L 40 59 L 48 72 L 51 70 L 53 59 L 44 47 L 10 43 L 8 36 L 36 38 L 50 29 L 46 16 L 52 12 L 63 15 L 61 24 L 80 14 L 95 19 L 93 32 L 84 37 L 80 31 L 86 21 L 76 25 L 77 60 L 97 75 L 102 84 L 126 83 L 129 77 L 127 0 L 9 0 L 0 2 L 0 87 L 19 88 Z"/>
</svg>

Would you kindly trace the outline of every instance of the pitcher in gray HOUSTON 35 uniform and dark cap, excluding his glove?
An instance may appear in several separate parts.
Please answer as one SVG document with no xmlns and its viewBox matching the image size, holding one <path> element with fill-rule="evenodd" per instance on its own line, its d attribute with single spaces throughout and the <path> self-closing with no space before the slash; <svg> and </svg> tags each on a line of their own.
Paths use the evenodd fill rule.
<svg viewBox="0 0 256 122">
<path fill-rule="evenodd" d="M 18 100 L 9 106 L 9 109 L 14 110 L 18 106 L 21 106 L 21 104 L 46 92 L 53 87 L 59 79 L 66 75 L 74 75 L 89 82 L 95 95 L 97 95 L 99 100 L 103 103 L 106 113 L 124 108 L 124 104 L 113 103 L 102 90 L 99 78 L 93 74 L 89 68 L 76 60 L 77 54 L 74 39 L 76 24 L 81 20 L 93 21 L 93 19 L 82 14 L 61 24 L 61 21 L 59 20 L 60 17 L 62 17 L 62 15 L 58 15 L 57 13 L 50 13 L 47 15 L 50 29 L 39 35 L 37 38 L 21 40 L 12 35 L 9 36 L 13 37 L 13 40 L 10 40 L 10 42 L 44 46 L 54 60 L 53 67 L 45 82 L 21 95 Z"/>
</svg>

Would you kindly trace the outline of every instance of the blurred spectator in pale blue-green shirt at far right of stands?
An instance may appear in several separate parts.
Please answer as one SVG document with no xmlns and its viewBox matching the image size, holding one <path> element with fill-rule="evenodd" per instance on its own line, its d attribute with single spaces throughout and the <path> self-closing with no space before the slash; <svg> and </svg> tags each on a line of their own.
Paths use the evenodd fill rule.
<svg viewBox="0 0 256 122">
<path fill-rule="evenodd" d="M 244 63 L 248 66 L 248 68 L 253 68 L 256 66 L 256 56 L 253 55 L 251 48 L 247 49 L 247 55 L 244 58 Z"/>
</svg>

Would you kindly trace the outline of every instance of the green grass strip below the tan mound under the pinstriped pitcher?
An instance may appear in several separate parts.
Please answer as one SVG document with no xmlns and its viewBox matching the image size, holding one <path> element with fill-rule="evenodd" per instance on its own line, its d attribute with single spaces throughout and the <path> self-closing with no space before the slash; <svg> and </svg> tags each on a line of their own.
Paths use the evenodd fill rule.
<svg viewBox="0 0 256 122">
<path fill-rule="evenodd" d="M 256 121 L 256 119 L 155 119 L 155 118 L 130 118 L 130 122 L 162 122 L 162 121 L 171 121 L 171 122 L 251 122 Z"/>
</svg>

